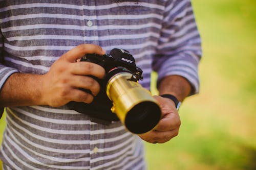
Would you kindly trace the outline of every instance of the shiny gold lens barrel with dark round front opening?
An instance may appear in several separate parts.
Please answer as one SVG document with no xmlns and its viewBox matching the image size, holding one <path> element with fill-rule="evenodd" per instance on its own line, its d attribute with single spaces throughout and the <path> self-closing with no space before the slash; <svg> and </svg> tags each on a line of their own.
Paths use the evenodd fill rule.
<svg viewBox="0 0 256 170">
<path fill-rule="evenodd" d="M 131 77 L 129 72 L 113 76 L 106 86 L 106 94 L 113 102 L 111 111 L 125 127 L 132 133 L 145 133 L 158 124 L 161 110 L 150 91 L 130 81 Z"/>
</svg>

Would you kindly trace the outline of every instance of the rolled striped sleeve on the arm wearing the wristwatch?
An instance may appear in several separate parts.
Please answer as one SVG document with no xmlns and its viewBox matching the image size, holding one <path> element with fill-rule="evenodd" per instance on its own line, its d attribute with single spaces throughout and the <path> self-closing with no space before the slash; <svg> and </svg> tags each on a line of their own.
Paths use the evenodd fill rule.
<svg viewBox="0 0 256 170">
<path fill-rule="evenodd" d="M 201 59 L 201 39 L 191 2 L 168 1 L 153 69 L 158 72 L 157 84 L 166 76 L 178 75 L 189 81 L 199 92 L 198 64 Z"/>
</svg>

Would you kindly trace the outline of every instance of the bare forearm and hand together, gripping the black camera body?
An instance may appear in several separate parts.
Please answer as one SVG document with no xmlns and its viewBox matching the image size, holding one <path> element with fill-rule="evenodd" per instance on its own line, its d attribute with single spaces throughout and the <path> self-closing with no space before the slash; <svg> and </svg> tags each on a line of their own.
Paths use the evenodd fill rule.
<svg viewBox="0 0 256 170">
<path fill-rule="evenodd" d="M 91 103 L 100 85 L 88 75 L 103 78 L 105 70 L 91 62 L 76 61 L 92 53 L 103 55 L 105 51 L 98 45 L 81 44 L 63 54 L 45 75 L 12 74 L 0 90 L 0 107 Z M 79 88 L 91 90 L 94 96 Z"/>
</svg>

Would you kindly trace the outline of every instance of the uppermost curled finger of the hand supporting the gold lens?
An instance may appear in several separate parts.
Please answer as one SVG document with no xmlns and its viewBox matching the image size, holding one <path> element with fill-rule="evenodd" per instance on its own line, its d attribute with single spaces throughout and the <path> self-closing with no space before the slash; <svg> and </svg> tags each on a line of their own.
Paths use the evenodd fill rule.
<svg viewBox="0 0 256 170">
<path fill-rule="evenodd" d="M 181 125 L 181 120 L 178 114 L 169 113 L 166 114 L 154 128 L 157 131 L 170 131 L 179 128 Z"/>
</svg>

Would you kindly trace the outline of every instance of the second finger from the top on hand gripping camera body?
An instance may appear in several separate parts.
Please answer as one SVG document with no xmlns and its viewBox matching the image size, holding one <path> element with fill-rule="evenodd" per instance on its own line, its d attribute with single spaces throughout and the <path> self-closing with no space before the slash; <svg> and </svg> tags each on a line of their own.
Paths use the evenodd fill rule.
<svg viewBox="0 0 256 170">
<path fill-rule="evenodd" d="M 105 69 L 95 63 L 77 62 L 72 63 L 71 73 L 74 75 L 91 75 L 101 79 L 105 76 Z"/>
</svg>

